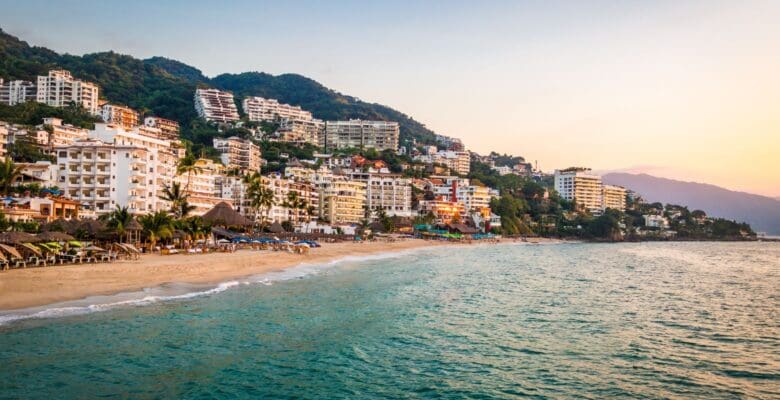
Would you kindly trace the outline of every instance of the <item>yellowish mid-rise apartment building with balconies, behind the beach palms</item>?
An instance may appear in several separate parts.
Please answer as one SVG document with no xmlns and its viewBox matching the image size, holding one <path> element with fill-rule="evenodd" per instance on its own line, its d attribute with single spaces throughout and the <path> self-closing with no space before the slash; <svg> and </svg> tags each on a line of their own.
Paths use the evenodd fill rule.
<svg viewBox="0 0 780 400">
<path fill-rule="evenodd" d="M 331 224 L 356 224 L 365 217 L 366 184 L 343 176 L 320 186 L 320 220 Z"/>
</svg>

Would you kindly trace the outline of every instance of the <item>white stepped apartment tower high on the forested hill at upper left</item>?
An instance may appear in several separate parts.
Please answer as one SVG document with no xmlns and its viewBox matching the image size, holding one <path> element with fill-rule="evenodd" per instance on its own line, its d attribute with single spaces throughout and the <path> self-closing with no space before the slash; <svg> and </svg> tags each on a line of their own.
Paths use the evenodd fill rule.
<svg viewBox="0 0 780 400">
<path fill-rule="evenodd" d="M 36 100 L 39 103 L 52 107 L 66 107 L 75 103 L 92 115 L 100 115 L 98 86 L 74 79 L 68 71 L 52 70 L 47 76 L 39 76 L 36 88 Z"/>
</svg>

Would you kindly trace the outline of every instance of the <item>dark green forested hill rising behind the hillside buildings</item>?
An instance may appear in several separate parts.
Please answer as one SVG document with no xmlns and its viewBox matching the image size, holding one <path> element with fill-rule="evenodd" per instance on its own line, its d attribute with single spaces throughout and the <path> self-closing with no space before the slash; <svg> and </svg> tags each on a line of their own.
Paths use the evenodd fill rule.
<svg viewBox="0 0 780 400">
<path fill-rule="evenodd" d="M 52 68 L 65 68 L 79 79 L 97 83 L 101 97 L 111 102 L 179 121 L 185 135 L 196 119 L 194 91 L 203 86 L 232 91 L 237 101 L 248 95 L 275 98 L 299 105 L 321 119 L 397 121 L 402 142 L 412 138 L 423 143 L 434 141 L 430 129 L 400 111 L 338 93 L 301 75 L 246 72 L 212 79 L 195 67 L 164 57 L 140 60 L 111 51 L 83 56 L 58 54 L 30 46 L 0 29 L 0 77 L 35 80 Z"/>
</svg>

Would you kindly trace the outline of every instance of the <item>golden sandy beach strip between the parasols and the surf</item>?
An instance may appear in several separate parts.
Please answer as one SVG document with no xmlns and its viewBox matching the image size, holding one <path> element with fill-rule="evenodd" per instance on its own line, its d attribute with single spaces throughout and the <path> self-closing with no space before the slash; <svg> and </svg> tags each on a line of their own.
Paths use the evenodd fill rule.
<svg viewBox="0 0 780 400">
<path fill-rule="evenodd" d="M 144 255 L 140 260 L 0 271 L 0 310 L 141 290 L 169 282 L 219 283 L 233 278 L 324 263 L 347 256 L 451 244 L 424 240 L 326 243 L 309 254 L 256 250 L 199 255 Z"/>
</svg>

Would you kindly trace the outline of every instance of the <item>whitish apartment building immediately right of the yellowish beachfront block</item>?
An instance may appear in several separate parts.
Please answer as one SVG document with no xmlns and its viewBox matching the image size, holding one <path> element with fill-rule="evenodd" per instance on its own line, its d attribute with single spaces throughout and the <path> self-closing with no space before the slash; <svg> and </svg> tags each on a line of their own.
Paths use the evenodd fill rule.
<svg viewBox="0 0 780 400">
<path fill-rule="evenodd" d="M 398 174 L 385 171 L 344 171 L 351 180 L 366 184 L 366 207 L 383 210 L 388 216 L 411 217 L 412 182 Z"/>
</svg>

